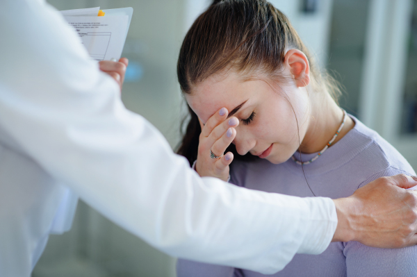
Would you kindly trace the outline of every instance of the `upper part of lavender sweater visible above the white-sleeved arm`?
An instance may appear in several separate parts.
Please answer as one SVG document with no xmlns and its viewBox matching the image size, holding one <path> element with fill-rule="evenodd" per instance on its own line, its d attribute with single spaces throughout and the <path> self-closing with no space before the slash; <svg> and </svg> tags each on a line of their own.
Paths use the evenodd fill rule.
<svg viewBox="0 0 417 277">
<path fill-rule="evenodd" d="M 382 176 L 415 175 L 409 162 L 377 132 L 352 117 L 355 126 L 317 160 L 303 167 L 293 160 L 274 165 L 268 160 L 236 160 L 231 183 L 295 196 L 350 196 L 358 187 Z M 304 154 L 303 154 L 304 155 Z M 302 158 L 309 160 L 311 153 Z"/>
</svg>

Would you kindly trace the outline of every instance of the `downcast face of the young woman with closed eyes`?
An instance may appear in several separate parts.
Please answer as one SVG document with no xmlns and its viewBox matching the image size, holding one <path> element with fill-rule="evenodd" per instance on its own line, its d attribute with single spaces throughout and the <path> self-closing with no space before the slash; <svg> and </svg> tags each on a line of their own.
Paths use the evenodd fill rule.
<svg viewBox="0 0 417 277">
<path fill-rule="evenodd" d="M 203 124 L 217 110 L 227 108 L 229 117 L 240 120 L 233 142 L 238 153 L 250 152 L 275 164 L 291 158 L 309 125 L 306 88 L 291 80 L 285 85 L 267 79 L 242 81 L 231 72 L 207 78 L 186 100 Z"/>
</svg>

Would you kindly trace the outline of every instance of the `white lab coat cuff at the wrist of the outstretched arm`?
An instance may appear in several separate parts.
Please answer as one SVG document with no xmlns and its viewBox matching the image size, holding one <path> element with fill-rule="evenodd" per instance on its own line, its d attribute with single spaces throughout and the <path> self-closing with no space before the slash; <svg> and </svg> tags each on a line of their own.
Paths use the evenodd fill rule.
<svg viewBox="0 0 417 277">
<path fill-rule="evenodd" d="M 318 255 L 332 242 L 337 227 L 336 206 L 326 197 L 306 198 L 311 212 L 304 239 L 297 253 Z"/>
</svg>

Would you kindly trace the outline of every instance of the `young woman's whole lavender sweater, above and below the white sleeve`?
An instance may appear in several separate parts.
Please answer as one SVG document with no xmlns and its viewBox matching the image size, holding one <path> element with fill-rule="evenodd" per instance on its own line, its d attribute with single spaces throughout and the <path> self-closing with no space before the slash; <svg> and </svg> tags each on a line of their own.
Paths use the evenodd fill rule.
<svg viewBox="0 0 417 277">
<path fill-rule="evenodd" d="M 352 117 L 352 116 L 351 116 Z M 231 183 L 252 190 L 294 196 L 350 196 L 355 190 L 382 176 L 416 175 L 407 160 L 375 131 L 359 121 L 341 140 L 310 165 L 302 168 L 293 160 L 274 165 L 268 160 L 235 161 Z M 315 154 L 303 154 L 310 160 Z M 297 155 L 300 160 L 300 155 Z M 311 190 L 307 186 L 308 181 Z M 279 224 L 279 222 L 277 222 Z M 254 271 L 201 262 L 179 260 L 177 277 L 258 277 Z M 417 246 L 378 249 L 359 242 L 332 242 L 320 255 L 296 254 L 277 274 L 268 276 L 417 276 Z"/>
</svg>

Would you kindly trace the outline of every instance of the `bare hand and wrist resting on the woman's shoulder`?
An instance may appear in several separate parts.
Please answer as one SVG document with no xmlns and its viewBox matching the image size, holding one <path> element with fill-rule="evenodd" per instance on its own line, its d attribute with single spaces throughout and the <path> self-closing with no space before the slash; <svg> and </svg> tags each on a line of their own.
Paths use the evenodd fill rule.
<svg viewBox="0 0 417 277">
<path fill-rule="evenodd" d="M 417 185 L 404 175 L 379 178 L 352 196 L 336 199 L 338 225 L 332 242 L 355 240 L 367 246 L 400 248 L 417 244 Z"/>
</svg>

